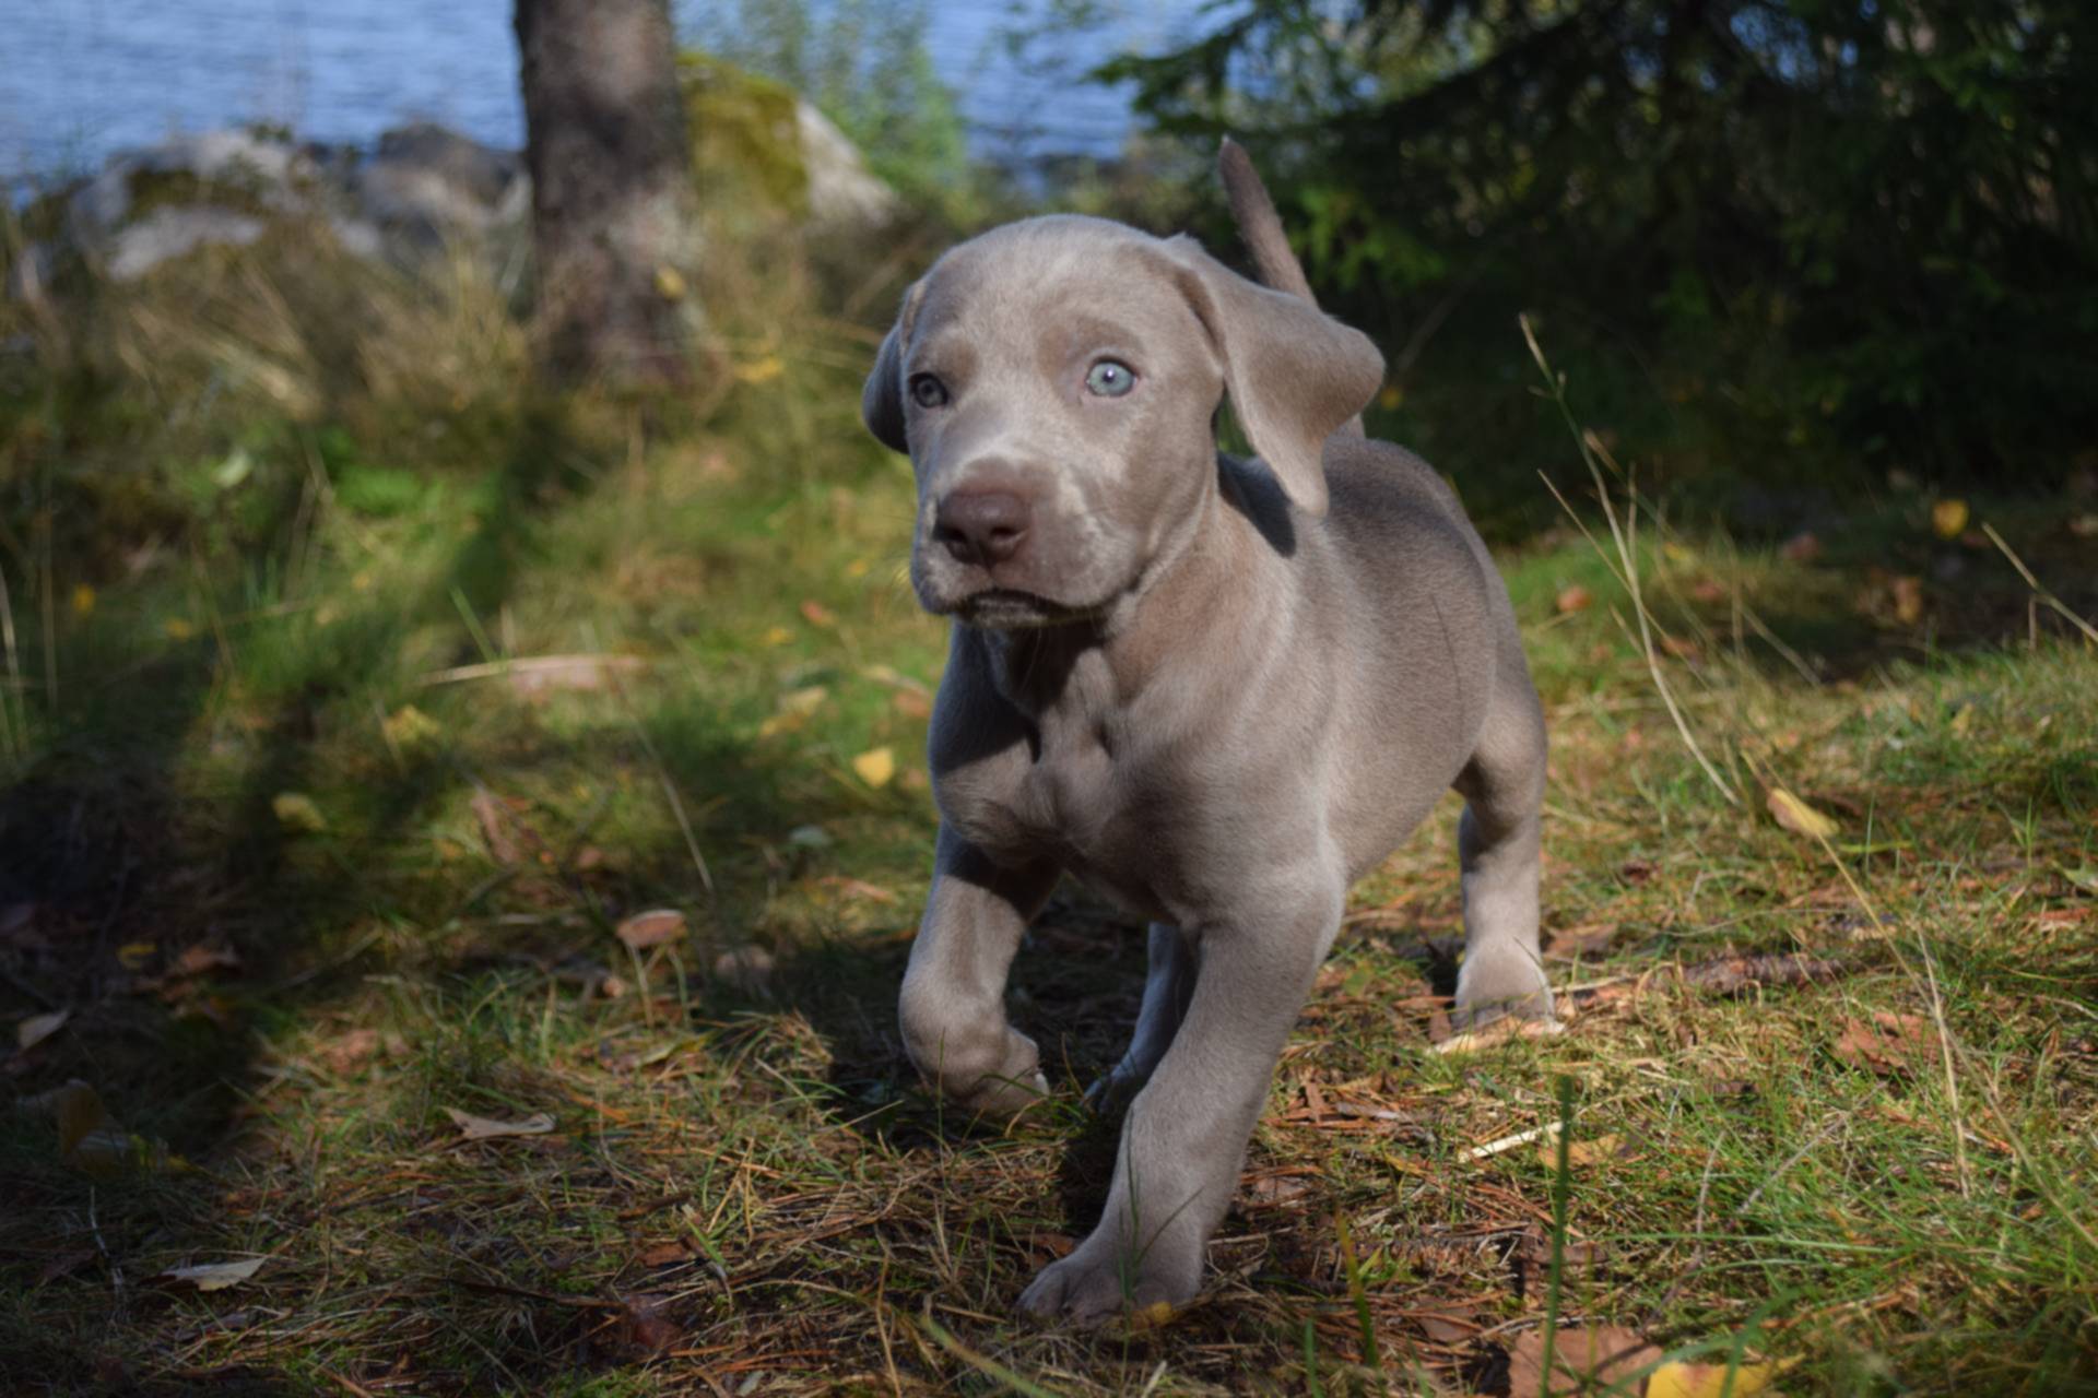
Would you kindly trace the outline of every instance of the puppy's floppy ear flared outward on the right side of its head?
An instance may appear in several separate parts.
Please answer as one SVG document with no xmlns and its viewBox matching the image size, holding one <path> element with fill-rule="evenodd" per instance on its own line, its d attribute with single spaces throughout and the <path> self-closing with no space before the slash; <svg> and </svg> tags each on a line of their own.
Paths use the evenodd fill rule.
<svg viewBox="0 0 2098 1398">
<path fill-rule="evenodd" d="M 1362 331 L 1246 281 L 1190 237 L 1169 239 L 1166 252 L 1253 449 L 1299 509 L 1326 514 L 1326 438 L 1376 396 L 1385 356 Z"/>
</svg>

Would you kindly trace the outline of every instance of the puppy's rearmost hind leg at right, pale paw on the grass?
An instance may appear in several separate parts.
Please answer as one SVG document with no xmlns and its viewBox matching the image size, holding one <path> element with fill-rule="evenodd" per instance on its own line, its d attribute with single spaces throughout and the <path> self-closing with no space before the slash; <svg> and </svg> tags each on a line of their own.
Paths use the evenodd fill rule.
<svg viewBox="0 0 2098 1398">
<path fill-rule="evenodd" d="M 1458 859 L 1464 868 L 1464 964 L 1456 977 L 1458 1029 L 1519 1014 L 1553 1019 L 1553 991 L 1538 952 L 1538 815 L 1544 805 L 1544 713 L 1529 675 L 1502 671 L 1471 765 Z"/>
</svg>

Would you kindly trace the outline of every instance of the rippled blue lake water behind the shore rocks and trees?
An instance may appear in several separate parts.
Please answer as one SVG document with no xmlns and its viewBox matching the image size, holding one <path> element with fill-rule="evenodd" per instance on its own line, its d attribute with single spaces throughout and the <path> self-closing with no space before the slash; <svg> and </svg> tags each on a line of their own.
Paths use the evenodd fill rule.
<svg viewBox="0 0 2098 1398">
<path fill-rule="evenodd" d="M 1032 4 L 936 0 L 925 46 L 976 147 L 1112 153 L 1127 94 L 1039 75 L 999 44 Z M 1125 0 L 1055 44 L 1066 71 L 1185 38 L 1200 0 Z M 680 27 L 703 0 L 676 0 Z M 0 0 L 0 178 L 76 170 L 178 130 L 277 122 L 369 143 L 432 119 L 518 147 L 508 0 Z"/>
</svg>

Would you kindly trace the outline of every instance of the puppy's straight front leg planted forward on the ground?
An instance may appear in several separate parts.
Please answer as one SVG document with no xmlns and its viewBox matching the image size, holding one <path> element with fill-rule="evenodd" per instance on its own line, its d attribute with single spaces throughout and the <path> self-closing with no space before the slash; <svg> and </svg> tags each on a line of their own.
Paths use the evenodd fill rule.
<svg viewBox="0 0 2098 1398">
<path fill-rule="evenodd" d="M 1278 899 L 1267 918 L 1200 931 L 1187 1019 L 1129 1105 L 1108 1207 L 1020 1297 L 1039 1318 L 1093 1325 L 1125 1306 L 1181 1306 L 1238 1188 L 1276 1058 L 1341 924 L 1343 889 Z"/>
</svg>

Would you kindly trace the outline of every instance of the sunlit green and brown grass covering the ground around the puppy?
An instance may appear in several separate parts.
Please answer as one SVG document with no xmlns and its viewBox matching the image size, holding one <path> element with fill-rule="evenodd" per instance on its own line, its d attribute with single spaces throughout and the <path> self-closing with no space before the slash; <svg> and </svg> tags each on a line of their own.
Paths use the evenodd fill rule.
<svg viewBox="0 0 2098 1398">
<path fill-rule="evenodd" d="M 1790 1394 L 2098 1383 L 2098 664 L 1922 495 L 1817 522 L 1813 562 L 1641 507 L 1655 662 L 1739 803 L 1618 558 L 1511 545 L 1569 1033 L 1439 1052 L 1452 801 L 1355 891 L 1202 1302 L 1015 1323 L 1106 1193 L 1076 1094 L 1141 937 L 1076 889 L 1030 935 L 1013 1017 L 1057 1096 L 1018 1126 L 915 1084 L 944 635 L 900 583 L 908 472 L 862 442 L 843 331 L 724 333 L 734 388 L 669 428 L 529 409 L 487 363 L 457 411 L 325 388 L 355 354 L 212 430 L 15 400 L 0 1008 L 69 1019 L 4 1071 L 92 1084 L 166 1155 L 88 1172 L 17 1111 L 10 1385 L 1504 1392 L 1525 1337 L 1601 1320 Z M 80 501 L 136 518 L 97 539 Z M 1974 509 L 2090 616 L 2075 505 Z M 1771 786 L 1838 832 L 1779 828 Z M 648 908 L 686 933 L 629 952 Z M 1836 970 L 1655 975 L 1802 952 Z M 468 1142 L 447 1109 L 552 1130 Z"/>
</svg>

